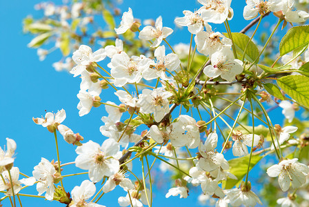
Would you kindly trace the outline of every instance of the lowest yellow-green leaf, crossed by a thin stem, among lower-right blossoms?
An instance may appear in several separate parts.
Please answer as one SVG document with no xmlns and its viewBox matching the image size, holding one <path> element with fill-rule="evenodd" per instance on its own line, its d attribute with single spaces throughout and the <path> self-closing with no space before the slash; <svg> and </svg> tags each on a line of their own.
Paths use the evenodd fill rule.
<svg viewBox="0 0 309 207">
<path fill-rule="evenodd" d="M 225 188 L 226 189 L 233 188 L 234 186 L 239 186 L 243 177 L 245 177 L 245 175 L 247 174 L 249 157 L 250 157 L 250 155 L 246 155 L 244 157 L 239 157 L 239 158 L 231 159 L 230 161 L 228 161 L 228 164 L 230 164 L 230 173 L 235 175 L 237 177 L 237 179 L 228 178 L 225 182 Z M 252 170 L 252 168 L 262 158 L 263 157 L 261 155 L 252 155 L 249 170 Z"/>
</svg>

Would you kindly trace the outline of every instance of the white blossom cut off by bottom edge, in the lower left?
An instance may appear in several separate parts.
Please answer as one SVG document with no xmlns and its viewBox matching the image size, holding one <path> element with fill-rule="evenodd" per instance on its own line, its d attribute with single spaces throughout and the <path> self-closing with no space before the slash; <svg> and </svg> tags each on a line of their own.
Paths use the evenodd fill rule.
<svg viewBox="0 0 309 207">
<path fill-rule="evenodd" d="M 92 181 L 84 180 L 81 183 L 81 186 L 75 186 L 71 192 L 72 194 L 72 201 L 70 203 L 70 207 L 105 207 L 95 203 L 88 203 L 86 200 L 90 199 L 92 195 L 94 195 L 96 191 L 95 185 Z"/>
</svg>

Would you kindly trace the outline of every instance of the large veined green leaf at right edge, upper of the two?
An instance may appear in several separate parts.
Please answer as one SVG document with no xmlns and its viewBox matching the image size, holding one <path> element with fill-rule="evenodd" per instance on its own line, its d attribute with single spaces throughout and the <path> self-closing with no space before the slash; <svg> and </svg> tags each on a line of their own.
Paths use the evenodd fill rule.
<svg viewBox="0 0 309 207">
<path fill-rule="evenodd" d="M 290 28 L 282 38 L 279 46 L 280 55 L 308 46 L 309 26 L 297 26 Z"/>
</svg>

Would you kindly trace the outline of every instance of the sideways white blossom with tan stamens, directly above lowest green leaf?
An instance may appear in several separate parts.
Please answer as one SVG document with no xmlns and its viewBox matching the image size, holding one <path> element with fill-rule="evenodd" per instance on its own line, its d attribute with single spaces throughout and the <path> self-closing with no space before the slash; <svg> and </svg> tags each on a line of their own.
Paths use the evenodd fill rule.
<svg viewBox="0 0 309 207">
<path fill-rule="evenodd" d="M 235 141 L 232 146 L 232 152 L 234 156 L 242 157 L 248 155 L 248 147 L 252 146 L 252 139 L 253 140 L 253 146 L 257 146 L 259 144 L 259 140 L 261 137 L 259 135 L 242 135 L 241 132 L 236 132 L 235 135 L 232 136 L 233 140 Z"/>
</svg>

